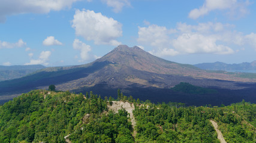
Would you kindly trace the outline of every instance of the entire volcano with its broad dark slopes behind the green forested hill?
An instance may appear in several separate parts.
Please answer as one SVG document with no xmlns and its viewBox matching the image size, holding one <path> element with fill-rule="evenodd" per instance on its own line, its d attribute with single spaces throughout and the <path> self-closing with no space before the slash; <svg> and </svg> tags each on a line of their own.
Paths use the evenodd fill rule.
<svg viewBox="0 0 256 143">
<path fill-rule="evenodd" d="M 217 92 L 202 95 L 171 89 L 180 82 Z M 83 94 L 93 91 L 102 97 L 116 98 L 116 91 L 121 89 L 125 95 L 152 102 L 220 105 L 242 99 L 255 102 L 255 82 L 256 74 L 202 70 L 155 57 L 137 46 L 119 45 L 89 64 L 49 67 L 29 76 L 0 82 L 0 100 L 5 102 L 23 92 L 55 85 L 56 90 Z"/>
</svg>

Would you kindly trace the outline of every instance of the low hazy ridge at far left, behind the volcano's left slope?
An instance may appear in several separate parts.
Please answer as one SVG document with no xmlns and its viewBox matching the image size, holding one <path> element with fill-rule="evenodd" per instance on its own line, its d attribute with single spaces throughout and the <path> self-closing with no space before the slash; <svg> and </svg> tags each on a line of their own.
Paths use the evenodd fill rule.
<svg viewBox="0 0 256 143">
<path fill-rule="evenodd" d="M 42 65 L 0 66 L 0 81 L 17 79 L 44 68 Z"/>
</svg>

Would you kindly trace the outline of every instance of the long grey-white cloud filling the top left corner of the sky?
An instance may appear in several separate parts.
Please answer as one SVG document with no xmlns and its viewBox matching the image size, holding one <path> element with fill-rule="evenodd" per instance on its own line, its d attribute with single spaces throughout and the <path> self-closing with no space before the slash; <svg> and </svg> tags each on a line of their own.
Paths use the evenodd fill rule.
<svg viewBox="0 0 256 143">
<path fill-rule="evenodd" d="M 24 13 L 49 13 L 50 11 L 59 11 L 64 8 L 70 8 L 71 5 L 80 0 L 11 0 L 0 1 L 0 22 L 5 21 L 7 15 Z"/>
</svg>

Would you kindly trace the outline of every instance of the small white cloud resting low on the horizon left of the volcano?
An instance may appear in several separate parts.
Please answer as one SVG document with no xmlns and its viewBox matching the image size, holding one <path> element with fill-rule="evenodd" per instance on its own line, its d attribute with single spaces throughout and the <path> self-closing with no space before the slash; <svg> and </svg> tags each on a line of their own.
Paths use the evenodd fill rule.
<svg viewBox="0 0 256 143">
<path fill-rule="evenodd" d="M 50 52 L 50 51 L 42 51 L 37 60 L 31 59 L 30 62 L 26 63 L 25 65 L 43 64 L 43 65 L 47 66 L 47 65 L 49 65 L 49 63 L 47 63 L 47 61 L 49 60 L 49 57 L 51 54 L 52 54 L 52 52 Z"/>
</svg>

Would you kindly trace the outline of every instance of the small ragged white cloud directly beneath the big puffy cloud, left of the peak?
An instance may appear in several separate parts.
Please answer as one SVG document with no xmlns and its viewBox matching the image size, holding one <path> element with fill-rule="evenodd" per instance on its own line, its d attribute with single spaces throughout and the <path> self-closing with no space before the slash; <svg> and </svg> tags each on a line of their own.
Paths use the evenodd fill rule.
<svg viewBox="0 0 256 143">
<path fill-rule="evenodd" d="M 86 45 L 86 43 L 79 41 L 79 39 L 74 39 L 73 48 L 80 50 L 80 57 L 82 59 L 80 60 L 80 62 L 89 60 L 90 55 L 88 54 L 88 52 L 91 51 L 90 45 Z"/>
</svg>

